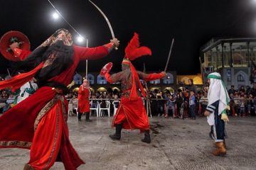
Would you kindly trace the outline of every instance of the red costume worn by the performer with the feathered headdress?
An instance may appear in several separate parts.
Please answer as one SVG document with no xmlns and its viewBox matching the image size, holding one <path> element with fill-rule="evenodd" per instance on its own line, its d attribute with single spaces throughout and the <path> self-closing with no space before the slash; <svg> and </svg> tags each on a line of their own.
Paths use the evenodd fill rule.
<svg viewBox="0 0 256 170">
<path fill-rule="evenodd" d="M 128 79 L 127 75 L 131 74 L 130 69 L 124 69 L 124 71 L 112 74 L 111 76 L 108 73 L 105 75 L 108 82 L 113 83 L 121 81 L 122 84 L 123 93 L 121 102 L 119 103 L 112 125 L 115 126 L 123 123 L 124 129 L 149 130 L 148 116 L 143 105 L 142 97 L 139 95 L 141 94 L 140 91 L 142 91 L 142 95 L 144 96 L 144 89 L 142 88 L 139 79 L 151 81 L 161 79 L 165 75 L 163 73 L 144 74 L 135 69 L 134 71 L 135 72 L 132 72 L 132 76 L 128 77 Z"/>
</svg>

